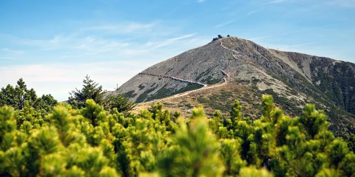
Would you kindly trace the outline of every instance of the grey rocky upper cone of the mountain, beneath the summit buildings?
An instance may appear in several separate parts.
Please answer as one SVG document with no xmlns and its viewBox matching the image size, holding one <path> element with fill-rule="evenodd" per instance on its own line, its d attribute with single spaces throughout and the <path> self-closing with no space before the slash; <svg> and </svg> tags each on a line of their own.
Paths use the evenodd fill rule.
<svg viewBox="0 0 355 177">
<path fill-rule="evenodd" d="M 277 75 L 292 77 L 291 68 L 279 60 L 267 49 L 255 43 L 228 37 L 147 68 L 123 84 L 119 92 L 125 93 L 137 102 L 142 102 L 152 100 L 152 97 L 162 98 L 176 94 L 180 89 L 189 90 L 201 86 L 194 83 L 205 85 L 219 83 L 223 81 L 222 78 L 225 75 L 223 72 L 230 75 L 229 80 L 251 80 L 253 77 L 271 79 L 272 77 L 267 74 L 268 70 L 265 68 Z M 186 82 L 157 75 L 194 83 L 188 85 Z M 166 94 L 159 94 L 161 92 Z M 141 96 L 142 94 L 146 96 Z"/>
</svg>

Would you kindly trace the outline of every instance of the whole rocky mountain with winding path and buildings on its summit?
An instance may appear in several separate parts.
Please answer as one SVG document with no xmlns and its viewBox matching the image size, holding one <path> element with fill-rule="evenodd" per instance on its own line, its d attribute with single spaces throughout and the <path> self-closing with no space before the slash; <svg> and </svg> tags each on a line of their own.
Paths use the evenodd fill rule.
<svg viewBox="0 0 355 177">
<path fill-rule="evenodd" d="M 161 99 L 173 110 L 174 105 L 188 111 L 203 104 L 223 114 L 228 113 L 226 105 L 240 99 L 248 116 L 258 118 L 253 109 L 258 110 L 257 102 L 267 93 L 288 114 L 300 115 L 306 103 L 315 103 L 340 136 L 355 131 L 354 87 L 354 63 L 225 37 L 148 67 L 109 94 L 120 92 L 137 103 Z"/>
</svg>

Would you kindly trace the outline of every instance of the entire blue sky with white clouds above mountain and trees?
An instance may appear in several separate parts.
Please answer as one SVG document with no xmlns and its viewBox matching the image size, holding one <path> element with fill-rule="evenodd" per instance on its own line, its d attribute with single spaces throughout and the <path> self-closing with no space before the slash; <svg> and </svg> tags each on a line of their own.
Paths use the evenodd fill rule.
<svg viewBox="0 0 355 177">
<path fill-rule="evenodd" d="M 0 0 L 0 87 L 112 90 L 216 34 L 355 62 L 355 0 Z"/>
</svg>

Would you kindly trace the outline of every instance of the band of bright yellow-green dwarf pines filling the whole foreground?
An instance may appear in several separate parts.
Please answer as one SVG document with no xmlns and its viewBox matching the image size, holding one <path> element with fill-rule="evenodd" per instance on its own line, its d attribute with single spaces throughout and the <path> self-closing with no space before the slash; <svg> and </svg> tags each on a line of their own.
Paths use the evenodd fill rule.
<svg viewBox="0 0 355 177">
<path fill-rule="evenodd" d="M 335 138 L 314 105 L 290 118 L 264 95 L 254 121 L 238 100 L 228 118 L 206 118 L 199 106 L 188 120 L 161 103 L 137 115 L 92 99 L 82 107 L 60 103 L 42 116 L 30 100 L 2 106 L 0 176 L 355 176 L 351 138 Z"/>
</svg>

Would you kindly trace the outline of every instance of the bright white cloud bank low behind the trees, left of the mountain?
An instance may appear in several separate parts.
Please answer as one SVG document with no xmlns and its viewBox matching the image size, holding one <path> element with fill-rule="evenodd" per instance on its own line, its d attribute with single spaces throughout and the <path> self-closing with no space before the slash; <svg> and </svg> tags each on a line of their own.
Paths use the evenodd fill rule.
<svg viewBox="0 0 355 177">
<path fill-rule="evenodd" d="M 117 69 L 117 66 L 121 66 Z M 112 89 L 116 84 L 123 84 L 149 65 L 145 62 L 86 62 L 62 64 L 29 64 L 0 66 L 0 86 L 15 84 L 23 78 L 29 88 L 34 88 L 38 95 L 52 94 L 59 101 L 68 98 L 74 88 L 80 88 L 83 77 L 88 74 L 104 89 Z"/>
</svg>

